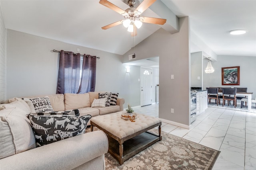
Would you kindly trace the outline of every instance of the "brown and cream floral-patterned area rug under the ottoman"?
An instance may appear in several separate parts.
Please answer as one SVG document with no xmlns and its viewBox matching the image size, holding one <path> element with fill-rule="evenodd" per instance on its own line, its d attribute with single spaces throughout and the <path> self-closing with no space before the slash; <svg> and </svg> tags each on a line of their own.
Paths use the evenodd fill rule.
<svg viewBox="0 0 256 170">
<path fill-rule="evenodd" d="M 158 130 L 150 130 L 158 133 Z M 120 165 L 105 154 L 106 170 L 210 170 L 220 151 L 162 132 L 162 141 L 151 145 Z"/>
</svg>

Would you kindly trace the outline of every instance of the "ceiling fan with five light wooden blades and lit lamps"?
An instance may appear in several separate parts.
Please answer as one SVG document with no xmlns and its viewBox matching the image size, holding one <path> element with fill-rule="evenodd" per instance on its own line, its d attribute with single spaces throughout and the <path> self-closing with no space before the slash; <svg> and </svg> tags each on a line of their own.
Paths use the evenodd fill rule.
<svg viewBox="0 0 256 170">
<path fill-rule="evenodd" d="M 142 12 L 150 7 L 155 1 L 156 0 L 144 0 L 137 8 L 134 8 L 135 0 L 128 0 L 128 6 L 130 6 L 130 8 L 127 8 L 124 11 L 107 0 L 100 0 L 100 4 L 124 16 L 124 20 L 106 25 L 102 27 L 102 29 L 108 29 L 122 23 L 124 27 L 128 28 L 127 30 L 131 32 L 132 36 L 136 36 L 137 28 L 140 28 L 143 22 L 164 25 L 164 23 L 166 23 L 166 19 L 140 16 L 140 14 L 142 14 Z"/>
</svg>

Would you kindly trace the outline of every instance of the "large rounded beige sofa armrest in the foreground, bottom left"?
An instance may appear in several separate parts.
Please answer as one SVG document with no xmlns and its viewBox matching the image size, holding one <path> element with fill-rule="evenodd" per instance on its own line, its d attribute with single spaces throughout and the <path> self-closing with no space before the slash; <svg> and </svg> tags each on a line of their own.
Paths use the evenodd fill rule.
<svg viewBox="0 0 256 170">
<path fill-rule="evenodd" d="M 106 152 L 106 134 L 93 131 L 2 158 L 0 165 L 3 170 L 70 170 Z"/>
</svg>

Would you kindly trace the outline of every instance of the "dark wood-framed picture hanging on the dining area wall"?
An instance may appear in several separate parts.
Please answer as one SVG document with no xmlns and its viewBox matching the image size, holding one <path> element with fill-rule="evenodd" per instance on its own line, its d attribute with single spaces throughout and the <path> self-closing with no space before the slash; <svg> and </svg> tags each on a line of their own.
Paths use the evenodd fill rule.
<svg viewBox="0 0 256 170">
<path fill-rule="evenodd" d="M 222 67 L 222 85 L 240 85 L 240 66 Z"/>
</svg>

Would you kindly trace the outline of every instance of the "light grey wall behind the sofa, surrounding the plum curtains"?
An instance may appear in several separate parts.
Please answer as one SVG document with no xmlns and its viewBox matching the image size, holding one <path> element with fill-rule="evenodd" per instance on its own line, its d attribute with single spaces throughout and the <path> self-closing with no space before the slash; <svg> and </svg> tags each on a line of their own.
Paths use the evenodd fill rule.
<svg viewBox="0 0 256 170">
<path fill-rule="evenodd" d="M 126 73 L 121 55 L 10 29 L 7 29 L 7 99 L 56 94 L 59 54 L 52 49 L 76 53 L 78 48 L 81 54 L 100 57 L 97 60 L 95 91 L 119 93 L 119 97 L 126 100 L 124 107 L 127 101 L 132 106 L 140 104 L 140 95 L 134 95 L 140 92 L 140 71 L 134 72 L 140 67 L 132 66 L 130 74 Z M 130 83 L 135 80 L 137 82 Z"/>
</svg>

